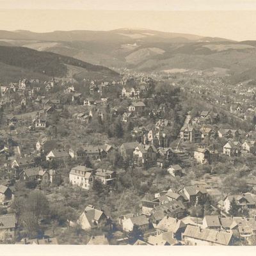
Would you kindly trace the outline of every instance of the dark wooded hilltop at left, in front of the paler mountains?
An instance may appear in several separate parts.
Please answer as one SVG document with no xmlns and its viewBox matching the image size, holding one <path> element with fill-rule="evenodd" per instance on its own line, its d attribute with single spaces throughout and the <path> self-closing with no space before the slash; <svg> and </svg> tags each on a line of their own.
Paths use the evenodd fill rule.
<svg viewBox="0 0 256 256">
<path fill-rule="evenodd" d="M 113 77 L 118 74 L 109 68 L 92 65 L 75 58 L 52 52 L 35 51 L 26 47 L 0 45 L 1 81 L 17 80 L 22 74 L 28 78 L 87 76 Z M 74 72 L 75 70 L 75 72 Z M 77 78 L 78 77 L 78 78 Z"/>
</svg>

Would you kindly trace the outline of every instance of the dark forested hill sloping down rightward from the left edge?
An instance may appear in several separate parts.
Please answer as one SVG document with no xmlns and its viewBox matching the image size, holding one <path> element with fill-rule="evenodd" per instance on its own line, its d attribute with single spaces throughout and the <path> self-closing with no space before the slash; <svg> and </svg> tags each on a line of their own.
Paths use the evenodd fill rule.
<svg viewBox="0 0 256 256">
<path fill-rule="evenodd" d="M 118 76 L 118 73 L 107 67 L 92 65 L 52 52 L 35 51 L 26 47 L 0 46 L 0 65 L 2 68 L 6 65 L 8 72 L 12 72 L 10 67 L 13 67 L 13 77 L 15 77 L 17 68 L 28 70 L 29 74 L 35 72 L 47 77 L 67 77 L 70 67 L 78 68 L 78 72 L 97 73 L 105 77 Z M 1 76 L 4 76 L 3 70 Z"/>
</svg>

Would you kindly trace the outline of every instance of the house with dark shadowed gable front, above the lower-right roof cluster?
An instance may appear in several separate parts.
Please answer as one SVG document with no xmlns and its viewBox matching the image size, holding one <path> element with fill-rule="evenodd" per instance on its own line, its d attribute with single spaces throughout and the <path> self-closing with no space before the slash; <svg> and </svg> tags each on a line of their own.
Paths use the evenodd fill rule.
<svg viewBox="0 0 256 256">
<path fill-rule="evenodd" d="M 207 198 L 207 191 L 203 186 L 185 186 L 179 190 L 179 194 L 188 201 L 190 205 L 204 204 Z"/>
</svg>

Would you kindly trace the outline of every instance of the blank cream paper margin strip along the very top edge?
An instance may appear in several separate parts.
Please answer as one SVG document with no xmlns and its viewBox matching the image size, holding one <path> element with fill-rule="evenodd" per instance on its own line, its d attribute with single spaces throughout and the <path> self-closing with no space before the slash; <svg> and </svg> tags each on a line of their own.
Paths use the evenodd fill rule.
<svg viewBox="0 0 256 256">
<path fill-rule="evenodd" d="M 255 0 L 0 0 L 3 9 L 252 10 Z"/>
</svg>

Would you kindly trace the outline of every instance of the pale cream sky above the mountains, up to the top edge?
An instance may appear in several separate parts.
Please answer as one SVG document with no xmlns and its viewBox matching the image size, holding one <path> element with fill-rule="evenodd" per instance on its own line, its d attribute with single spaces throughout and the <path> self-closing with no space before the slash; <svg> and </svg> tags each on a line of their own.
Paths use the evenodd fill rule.
<svg viewBox="0 0 256 256">
<path fill-rule="evenodd" d="M 256 40 L 256 0 L 0 0 L 0 29 L 147 28 Z"/>
</svg>

